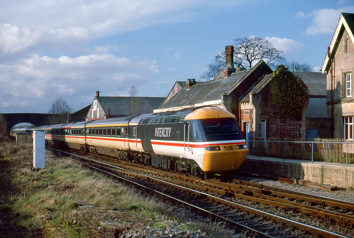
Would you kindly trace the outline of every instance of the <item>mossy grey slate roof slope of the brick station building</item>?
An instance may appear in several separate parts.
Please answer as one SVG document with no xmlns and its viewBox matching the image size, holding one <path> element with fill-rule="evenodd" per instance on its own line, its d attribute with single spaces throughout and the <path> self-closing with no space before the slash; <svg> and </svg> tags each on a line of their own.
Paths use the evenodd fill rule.
<svg viewBox="0 0 354 238">
<path fill-rule="evenodd" d="M 239 80 L 241 80 L 249 70 L 244 70 L 232 74 L 226 79 L 215 79 L 198 85 L 194 85 L 189 89 L 183 88 L 179 90 L 170 100 L 166 101 L 161 108 L 183 107 L 221 99 L 221 95 L 227 92 Z"/>
</svg>

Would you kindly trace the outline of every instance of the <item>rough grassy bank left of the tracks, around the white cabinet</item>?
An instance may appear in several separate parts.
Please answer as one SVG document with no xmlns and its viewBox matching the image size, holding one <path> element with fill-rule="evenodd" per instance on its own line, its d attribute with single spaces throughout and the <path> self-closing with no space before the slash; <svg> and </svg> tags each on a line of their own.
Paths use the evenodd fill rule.
<svg viewBox="0 0 354 238">
<path fill-rule="evenodd" d="M 171 205 L 69 159 L 46 153 L 45 169 L 21 172 L 33 167 L 32 153 L 32 145 L 0 144 L 0 237 L 115 237 L 131 223 L 226 237 L 220 224 L 188 222 L 189 212 L 176 217 Z"/>
</svg>

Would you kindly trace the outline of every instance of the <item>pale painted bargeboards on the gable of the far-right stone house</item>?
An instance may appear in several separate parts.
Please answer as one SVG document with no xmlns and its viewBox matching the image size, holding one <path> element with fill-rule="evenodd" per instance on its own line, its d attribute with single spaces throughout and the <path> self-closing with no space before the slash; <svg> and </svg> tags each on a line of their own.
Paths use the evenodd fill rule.
<svg viewBox="0 0 354 238">
<path fill-rule="evenodd" d="M 348 34 L 349 34 L 349 38 L 350 40 L 352 40 L 352 42 L 354 42 L 354 13 L 345 13 L 342 12 L 341 17 L 339 18 L 338 24 L 337 24 L 337 28 L 333 34 L 332 37 L 332 41 L 330 44 L 330 53 L 332 54 L 332 52 L 334 52 L 336 50 L 336 47 L 338 45 L 338 38 L 341 37 L 342 35 L 342 29 L 346 29 Z M 326 55 L 325 60 L 322 64 L 322 73 L 324 73 L 325 71 L 328 70 L 330 64 L 330 58 L 328 57 L 328 55 Z"/>
</svg>

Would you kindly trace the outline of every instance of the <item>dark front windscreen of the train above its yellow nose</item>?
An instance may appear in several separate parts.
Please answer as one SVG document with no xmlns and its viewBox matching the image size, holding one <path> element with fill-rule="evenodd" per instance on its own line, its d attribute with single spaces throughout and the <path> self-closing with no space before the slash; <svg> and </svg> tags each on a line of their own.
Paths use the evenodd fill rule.
<svg viewBox="0 0 354 238">
<path fill-rule="evenodd" d="M 233 118 L 205 119 L 203 123 L 208 135 L 230 135 L 239 133 Z"/>
</svg>

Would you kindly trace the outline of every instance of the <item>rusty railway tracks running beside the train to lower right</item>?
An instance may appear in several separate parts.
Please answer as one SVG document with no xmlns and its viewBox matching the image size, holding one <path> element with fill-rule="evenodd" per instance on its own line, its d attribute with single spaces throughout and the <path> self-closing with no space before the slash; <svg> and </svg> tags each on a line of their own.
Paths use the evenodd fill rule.
<svg viewBox="0 0 354 238">
<path fill-rule="evenodd" d="M 67 153 L 67 152 L 65 152 Z M 78 156 L 78 155 L 75 155 Z M 232 183 L 196 178 L 129 162 L 107 162 L 79 156 L 81 163 L 176 200 L 213 217 L 240 233 L 240 237 L 354 237 L 354 204 L 341 200 L 269 187 L 241 180 Z M 245 202 L 246 201 L 246 202 Z M 253 205 L 252 205 L 253 204 Z M 261 208 L 257 209 L 257 206 Z M 270 207 L 278 212 L 268 212 Z M 271 210 L 272 210 L 271 209 Z M 280 211 L 280 212 L 279 212 Z M 281 215 L 276 215 L 280 213 Z M 288 217 L 286 214 L 290 214 Z M 296 217 L 319 219 L 318 228 Z M 305 219 L 305 220 L 306 220 Z M 342 234 L 333 232 L 340 227 Z M 332 230 L 332 231 L 329 231 Z M 235 236 L 236 237 L 236 236 Z"/>
</svg>

